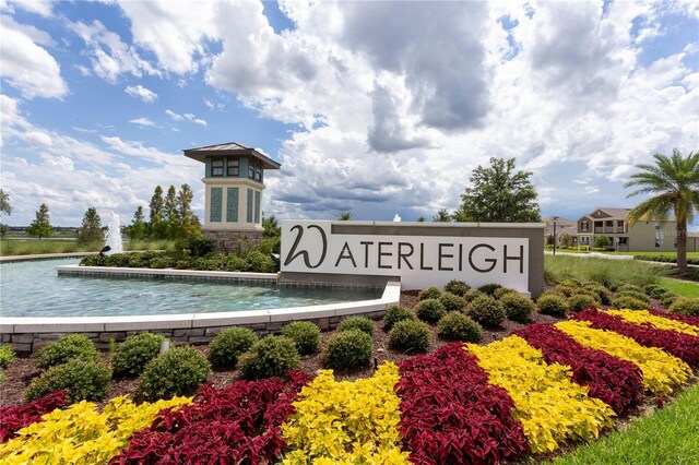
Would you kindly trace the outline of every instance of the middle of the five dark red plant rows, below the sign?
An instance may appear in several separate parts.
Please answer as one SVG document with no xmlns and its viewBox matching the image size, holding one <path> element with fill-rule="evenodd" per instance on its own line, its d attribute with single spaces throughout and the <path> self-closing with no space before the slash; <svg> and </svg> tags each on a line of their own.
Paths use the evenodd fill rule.
<svg viewBox="0 0 699 465">
<path fill-rule="evenodd" d="M 460 343 L 403 361 L 403 443 L 418 464 L 500 463 L 529 452 L 513 403 Z"/>
</svg>

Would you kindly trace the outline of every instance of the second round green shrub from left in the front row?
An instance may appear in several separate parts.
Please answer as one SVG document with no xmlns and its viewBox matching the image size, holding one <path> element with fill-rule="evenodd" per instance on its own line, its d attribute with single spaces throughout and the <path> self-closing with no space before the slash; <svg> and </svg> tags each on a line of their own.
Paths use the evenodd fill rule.
<svg viewBox="0 0 699 465">
<path fill-rule="evenodd" d="M 210 372 L 209 361 L 194 347 L 173 347 L 146 363 L 140 389 L 147 401 L 190 395 L 206 381 Z"/>
</svg>

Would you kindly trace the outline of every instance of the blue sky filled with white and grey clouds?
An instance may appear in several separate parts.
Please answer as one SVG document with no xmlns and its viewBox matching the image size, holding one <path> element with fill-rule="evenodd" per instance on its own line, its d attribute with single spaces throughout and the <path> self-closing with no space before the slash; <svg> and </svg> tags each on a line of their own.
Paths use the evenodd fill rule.
<svg viewBox="0 0 699 465">
<path fill-rule="evenodd" d="M 181 151 L 229 141 L 282 164 L 283 218 L 431 218 L 491 156 L 544 216 L 632 206 L 635 165 L 699 148 L 698 4 L 0 0 L 3 223 L 185 182 L 201 215 Z"/>
</svg>

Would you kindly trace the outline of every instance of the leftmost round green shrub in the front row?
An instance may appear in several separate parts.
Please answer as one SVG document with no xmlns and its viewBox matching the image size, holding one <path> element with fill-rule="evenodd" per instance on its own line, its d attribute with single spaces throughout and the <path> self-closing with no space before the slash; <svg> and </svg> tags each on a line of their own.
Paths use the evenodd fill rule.
<svg viewBox="0 0 699 465">
<path fill-rule="evenodd" d="M 27 402 L 43 397 L 55 391 L 68 391 L 70 403 L 96 401 L 109 390 L 111 370 L 95 360 L 72 358 L 56 365 L 35 378 L 24 396 Z"/>
</svg>

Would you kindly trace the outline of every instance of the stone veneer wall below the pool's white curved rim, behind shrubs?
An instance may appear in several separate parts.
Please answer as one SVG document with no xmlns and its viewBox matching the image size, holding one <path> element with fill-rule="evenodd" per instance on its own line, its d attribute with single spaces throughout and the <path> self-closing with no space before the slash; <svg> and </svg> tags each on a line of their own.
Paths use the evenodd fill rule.
<svg viewBox="0 0 699 465">
<path fill-rule="evenodd" d="M 386 310 L 375 311 L 370 313 L 357 313 L 360 317 L 378 320 L 383 318 Z M 321 331 L 330 331 L 337 326 L 340 321 L 344 318 L 352 317 L 351 314 L 343 317 L 325 317 L 316 319 L 298 319 L 295 321 L 308 321 L 320 327 Z M 271 323 L 252 323 L 252 324 L 236 324 L 235 326 L 211 326 L 211 327 L 193 327 L 193 329 L 171 329 L 171 330 L 147 330 L 150 333 L 161 334 L 169 338 L 175 345 L 199 345 L 209 344 L 216 334 L 227 330 L 229 327 L 249 327 L 258 336 L 265 336 L 268 334 L 279 334 L 282 332 L 282 327 L 291 321 L 284 322 L 271 322 Z M 71 332 L 71 334 L 84 334 L 91 341 L 95 343 L 98 349 L 106 350 L 109 348 L 110 341 L 120 343 L 131 334 L 137 334 L 145 331 L 112 331 L 112 332 Z M 4 333 L 0 336 L 0 342 L 3 344 L 11 344 L 17 353 L 33 353 L 39 347 L 58 339 L 66 333 Z"/>
</svg>

